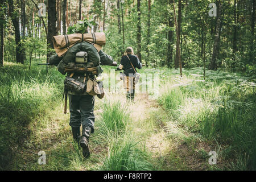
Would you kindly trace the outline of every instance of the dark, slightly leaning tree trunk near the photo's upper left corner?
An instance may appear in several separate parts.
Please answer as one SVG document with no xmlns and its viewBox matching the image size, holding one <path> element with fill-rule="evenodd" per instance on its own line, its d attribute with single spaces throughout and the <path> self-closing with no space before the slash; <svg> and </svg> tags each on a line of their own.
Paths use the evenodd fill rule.
<svg viewBox="0 0 256 182">
<path fill-rule="evenodd" d="M 20 42 L 20 31 L 19 31 L 19 18 L 14 14 L 14 3 L 13 0 L 8 0 L 9 3 L 9 13 L 11 20 L 13 22 L 14 31 L 15 31 L 15 43 L 16 43 L 16 62 L 24 64 L 24 59 L 22 57 L 22 44 Z"/>
</svg>

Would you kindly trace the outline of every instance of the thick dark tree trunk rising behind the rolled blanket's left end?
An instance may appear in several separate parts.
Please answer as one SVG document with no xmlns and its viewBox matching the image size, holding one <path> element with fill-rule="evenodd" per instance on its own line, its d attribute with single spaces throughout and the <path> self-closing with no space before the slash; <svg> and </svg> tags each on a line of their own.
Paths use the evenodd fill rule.
<svg viewBox="0 0 256 182">
<path fill-rule="evenodd" d="M 47 37 L 47 47 L 53 49 L 52 37 L 57 35 L 56 28 L 56 0 L 48 0 L 48 37 Z M 47 51 L 47 61 L 50 56 L 50 51 Z"/>
</svg>

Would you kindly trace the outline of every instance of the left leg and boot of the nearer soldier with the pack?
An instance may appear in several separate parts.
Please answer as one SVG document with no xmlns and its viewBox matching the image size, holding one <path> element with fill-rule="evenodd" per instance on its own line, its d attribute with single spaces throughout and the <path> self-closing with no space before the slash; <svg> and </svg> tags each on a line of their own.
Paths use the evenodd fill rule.
<svg viewBox="0 0 256 182">
<path fill-rule="evenodd" d="M 80 96 L 68 94 L 69 97 L 69 111 L 70 111 L 70 122 L 69 125 L 72 127 L 73 139 L 76 142 L 80 141 L 80 126 L 81 126 L 81 114 L 80 114 Z"/>
</svg>

